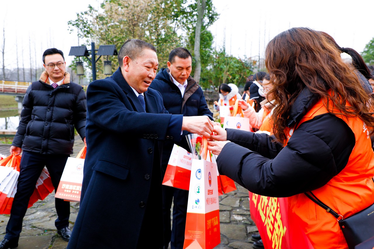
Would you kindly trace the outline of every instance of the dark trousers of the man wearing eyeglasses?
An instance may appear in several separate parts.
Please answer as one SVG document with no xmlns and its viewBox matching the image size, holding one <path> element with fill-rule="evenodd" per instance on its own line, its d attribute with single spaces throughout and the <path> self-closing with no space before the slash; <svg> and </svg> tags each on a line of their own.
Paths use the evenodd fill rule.
<svg viewBox="0 0 374 249">
<path fill-rule="evenodd" d="M 56 191 L 68 157 L 68 155 L 44 155 L 23 151 L 17 192 L 14 196 L 12 209 L 10 210 L 5 239 L 17 239 L 19 237 L 22 231 L 22 220 L 27 211 L 28 202 L 34 192 L 36 182 L 44 166 L 48 169 L 53 187 Z M 61 229 L 67 227 L 69 225 L 70 202 L 55 198 L 55 206 L 58 216 L 55 221 L 56 228 Z"/>
</svg>

